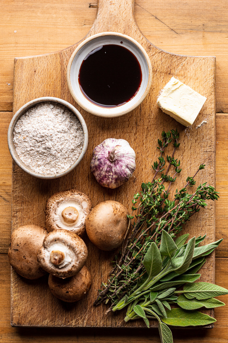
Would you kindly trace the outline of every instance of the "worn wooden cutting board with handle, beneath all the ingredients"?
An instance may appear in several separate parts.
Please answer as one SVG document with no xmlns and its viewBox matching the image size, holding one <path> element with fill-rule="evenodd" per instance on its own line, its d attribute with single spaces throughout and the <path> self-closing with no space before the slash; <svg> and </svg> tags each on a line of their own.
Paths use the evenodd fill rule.
<svg viewBox="0 0 228 343">
<path fill-rule="evenodd" d="M 70 28 L 69 28 L 70 29 Z M 215 185 L 215 57 L 182 56 L 165 52 L 153 46 L 140 32 L 134 19 L 133 0 L 100 0 L 95 22 L 86 37 L 93 34 L 115 31 L 136 39 L 147 51 L 153 69 L 153 80 L 149 95 L 144 102 L 129 114 L 118 118 L 96 117 L 86 113 L 70 95 L 66 68 L 69 58 L 80 43 L 65 50 L 47 55 L 15 58 L 13 113 L 28 101 L 41 96 L 54 96 L 67 100 L 82 114 L 89 131 L 88 150 L 82 162 L 65 177 L 41 180 L 29 176 L 13 163 L 12 175 L 12 230 L 20 225 L 44 225 L 46 200 L 54 192 L 75 188 L 87 194 L 93 206 L 115 199 L 127 208 L 131 206 L 133 194 L 140 190 L 142 182 L 152 179 L 151 163 L 157 158 L 157 140 L 163 130 L 177 128 L 181 145 L 175 155 L 180 158 L 183 171 L 176 181 L 175 189 L 182 188 L 188 175 L 193 176 L 200 163 L 206 169 L 198 174 L 196 181 L 207 181 Z M 84 37 L 83 39 L 85 39 Z M 172 76 L 207 97 L 207 100 L 191 128 L 185 128 L 162 113 L 156 104 L 161 88 Z M 198 125 L 207 123 L 199 128 Z M 126 139 L 136 152 L 135 177 L 115 189 L 100 186 L 90 173 L 90 161 L 94 147 L 109 137 Z M 171 152 L 171 151 L 170 151 Z M 207 234 L 205 244 L 215 237 L 215 207 L 210 203 L 192 217 L 184 226 L 191 236 Z M 97 289 L 107 279 L 113 252 L 95 248 L 88 238 L 89 267 L 93 285 L 88 297 L 77 303 L 63 303 L 54 298 L 48 288 L 48 277 L 30 281 L 12 270 L 11 277 L 11 324 L 12 326 L 36 327 L 143 327 L 143 321 L 123 321 L 124 310 L 105 315 L 106 306 L 93 306 Z M 201 279 L 214 282 L 215 258 L 207 258 Z M 212 314 L 213 311 L 206 311 Z M 156 322 L 151 321 L 155 327 Z"/>
</svg>

